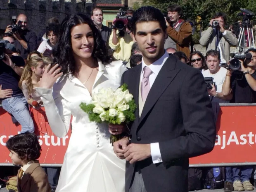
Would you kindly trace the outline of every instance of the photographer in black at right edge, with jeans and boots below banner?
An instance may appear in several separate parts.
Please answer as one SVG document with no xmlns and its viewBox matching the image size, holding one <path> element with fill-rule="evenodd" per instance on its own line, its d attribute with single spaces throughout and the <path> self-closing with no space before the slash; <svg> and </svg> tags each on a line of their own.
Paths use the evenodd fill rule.
<svg viewBox="0 0 256 192">
<path fill-rule="evenodd" d="M 256 103 L 256 49 L 248 49 L 246 53 L 251 54 L 251 59 L 240 60 L 241 67 L 237 71 L 228 69 L 223 83 L 223 95 L 232 95 L 232 103 Z M 225 167 L 224 191 L 254 190 L 250 183 L 253 168 L 254 166 Z"/>
</svg>

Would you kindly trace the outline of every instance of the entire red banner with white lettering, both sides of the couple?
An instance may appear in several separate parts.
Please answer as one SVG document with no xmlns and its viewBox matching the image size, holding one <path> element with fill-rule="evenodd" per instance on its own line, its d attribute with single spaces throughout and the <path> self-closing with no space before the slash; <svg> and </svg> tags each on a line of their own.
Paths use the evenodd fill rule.
<svg viewBox="0 0 256 192">
<path fill-rule="evenodd" d="M 31 109 L 35 133 L 42 147 L 41 164 L 62 164 L 69 143 L 70 131 L 64 138 L 52 133 L 44 108 Z M 211 153 L 190 159 L 192 166 L 216 164 L 256 164 L 256 106 L 221 106 L 215 147 Z M 0 164 L 11 164 L 5 143 L 18 134 L 21 126 L 12 123 L 11 116 L 0 107 Z"/>
</svg>

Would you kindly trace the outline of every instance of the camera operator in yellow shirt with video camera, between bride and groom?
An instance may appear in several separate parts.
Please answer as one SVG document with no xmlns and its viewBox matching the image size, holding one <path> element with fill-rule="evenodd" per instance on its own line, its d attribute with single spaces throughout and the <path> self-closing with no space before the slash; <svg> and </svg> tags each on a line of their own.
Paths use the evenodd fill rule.
<svg viewBox="0 0 256 192">
<path fill-rule="evenodd" d="M 129 27 L 133 12 L 132 9 L 127 10 L 125 13 L 120 11 L 113 21 L 114 27 L 109 37 L 109 46 L 114 50 L 114 58 L 122 60 L 124 65 L 129 61 L 133 46 L 133 36 Z"/>
</svg>

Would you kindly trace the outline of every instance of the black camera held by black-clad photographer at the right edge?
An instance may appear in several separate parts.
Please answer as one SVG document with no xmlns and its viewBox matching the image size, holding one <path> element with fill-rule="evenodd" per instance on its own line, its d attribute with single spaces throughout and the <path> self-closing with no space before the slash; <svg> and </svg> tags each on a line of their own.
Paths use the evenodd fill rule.
<svg viewBox="0 0 256 192">
<path fill-rule="evenodd" d="M 239 60 L 251 60 L 251 53 L 230 53 L 232 60 L 230 60 L 229 68 L 233 71 L 239 70 L 241 68 L 241 63 Z"/>
</svg>

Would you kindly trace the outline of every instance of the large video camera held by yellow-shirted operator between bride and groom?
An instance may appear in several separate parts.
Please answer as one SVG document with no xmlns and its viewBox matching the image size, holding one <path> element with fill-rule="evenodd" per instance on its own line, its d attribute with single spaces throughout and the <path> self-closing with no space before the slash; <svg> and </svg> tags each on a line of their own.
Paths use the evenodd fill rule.
<svg viewBox="0 0 256 192">
<path fill-rule="evenodd" d="M 122 9 L 119 9 L 119 13 L 116 16 L 116 20 L 114 21 L 114 28 L 116 28 L 117 30 L 119 30 L 119 34 L 121 37 L 124 36 L 124 33 L 122 32 L 123 28 L 125 28 L 125 26 L 127 26 L 127 28 L 130 30 L 131 26 L 131 19 L 132 16 L 126 16 L 125 12 L 122 11 Z"/>
</svg>

